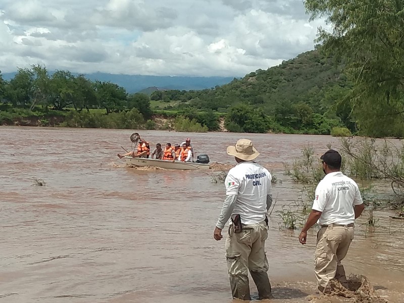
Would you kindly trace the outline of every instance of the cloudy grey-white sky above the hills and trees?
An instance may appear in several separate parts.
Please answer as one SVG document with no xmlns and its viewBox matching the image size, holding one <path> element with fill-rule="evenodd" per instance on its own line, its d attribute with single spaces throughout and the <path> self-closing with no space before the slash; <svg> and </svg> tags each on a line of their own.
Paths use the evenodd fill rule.
<svg viewBox="0 0 404 303">
<path fill-rule="evenodd" d="M 314 47 L 302 0 L 2 0 L 0 70 L 243 76 Z"/>
</svg>

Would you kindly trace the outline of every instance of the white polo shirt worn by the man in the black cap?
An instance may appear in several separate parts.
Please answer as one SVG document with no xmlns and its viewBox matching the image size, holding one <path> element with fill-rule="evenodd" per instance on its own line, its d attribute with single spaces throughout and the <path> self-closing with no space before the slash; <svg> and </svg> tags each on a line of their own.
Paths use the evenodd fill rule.
<svg viewBox="0 0 404 303">
<path fill-rule="evenodd" d="M 345 225 L 354 223 L 354 206 L 362 203 L 357 183 L 341 172 L 334 172 L 317 185 L 313 210 L 322 212 L 319 225 Z"/>
</svg>

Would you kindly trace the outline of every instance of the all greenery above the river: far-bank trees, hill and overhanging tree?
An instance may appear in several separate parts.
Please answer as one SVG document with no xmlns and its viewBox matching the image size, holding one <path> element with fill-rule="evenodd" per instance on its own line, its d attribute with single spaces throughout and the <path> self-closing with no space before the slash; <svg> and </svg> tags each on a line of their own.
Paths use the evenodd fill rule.
<svg viewBox="0 0 404 303">
<path fill-rule="evenodd" d="M 402 3 L 304 4 L 330 30 L 279 66 L 211 89 L 145 95 L 34 65 L 0 76 L 0 124 L 403 137 Z"/>
</svg>

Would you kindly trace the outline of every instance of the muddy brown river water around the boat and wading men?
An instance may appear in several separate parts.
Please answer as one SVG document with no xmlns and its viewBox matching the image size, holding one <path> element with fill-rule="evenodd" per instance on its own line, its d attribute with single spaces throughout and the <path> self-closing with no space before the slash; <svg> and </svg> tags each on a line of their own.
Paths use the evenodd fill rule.
<svg viewBox="0 0 404 303">
<path fill-rule="evenodd" d="M 231 302 L 224 241 L 213 229 L 224 185 L 202 171 L 127 168 L 116 156 L 130 148 L 130 130 L 0 127 L 1 302 Z M 233 165 L 227 145 L 253 140 L 258 161 L 277 176 L 275 211 L 266 242 L 273 302 L 305 302 L 315 293 L 313 252 L 299 231 L 279 228 L 276 210 L 300 187 L 283 176 L 300 148 L 320 155 L 330 136 L 188 134 L 140 131 L 155 145 L 191 137 L 195 153 Z M 220 165 L 214 165 L 220 167 Z M 40 178 L 46 186 L 32 186 Z M 375 212 L 375 231 L 360 226 L 344 262 L 366 275 L 377 293 L 404 302 L 404 224 Z M 365 215 L 363 217 L 366 217 Z M 256 295 L 251 281 L 252 295 Z M 343 300 L 341 300 L 342 302 Z M 334 300 L 333 302 L 340 302 Z"/>
</svg>

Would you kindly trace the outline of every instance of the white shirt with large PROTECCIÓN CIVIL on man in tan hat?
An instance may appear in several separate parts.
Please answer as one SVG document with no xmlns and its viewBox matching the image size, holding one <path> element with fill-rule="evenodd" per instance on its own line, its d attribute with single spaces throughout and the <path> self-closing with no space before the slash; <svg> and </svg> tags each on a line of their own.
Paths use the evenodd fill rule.
<svg viewBox="0 0 404 303">
<path fill-rule="evenodd" d="M 267 194 L 271 193 L 271 179 L 269 171 L 255 162 L 241 162 L 233 167 L 225 181 L 226 195 L 237 195 L 232 217 L 240 215 L 243 224 L 264 221 Z"/>
</svg>

